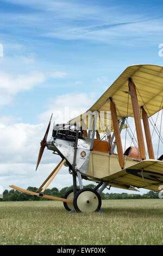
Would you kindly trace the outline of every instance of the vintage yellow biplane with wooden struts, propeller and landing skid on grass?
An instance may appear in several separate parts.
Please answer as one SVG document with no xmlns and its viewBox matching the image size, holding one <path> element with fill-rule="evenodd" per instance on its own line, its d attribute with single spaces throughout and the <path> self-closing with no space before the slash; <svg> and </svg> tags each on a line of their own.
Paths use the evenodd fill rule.
<svg viewBox="0 0 163 256">
<path fill-rule="evenodd" d="M 54 122 L 52 137 L 47 141 L 51 117 L 41 141 L 36 169 L 45 147 L 59 155 L 61 161 L 37 191 L 10 187 L 33 196 L 60 200 L 66 210 L 77 212 L 99 211 L 100 194 L 105 188 L 133 191 L 146 188 L 159 192 L 163 185 L 163 155 L 154 154 L 155 141 L 149 121 L 159 137 L 158 144 L 162 143 L 161 130 L 153 120 L 153 115 L 162 109 L 162 99 L 163 67 L 129 66 L 88 111 L 65 124 Z M 135 135 L 129 130 L 129 119 L 134 121 Z M 162 122 L 162 115 L 159 121 Z M 123 149 L 122 131 L 130 134 L 131 142 L 136 136 L 135 147 Z M 63 164 L 72 175 L 73 189 L 65 198 L 48 196 L 44 192 Z M 83 188 L 83 180 L 96 182 L 97 186 Z"/>
</svg>

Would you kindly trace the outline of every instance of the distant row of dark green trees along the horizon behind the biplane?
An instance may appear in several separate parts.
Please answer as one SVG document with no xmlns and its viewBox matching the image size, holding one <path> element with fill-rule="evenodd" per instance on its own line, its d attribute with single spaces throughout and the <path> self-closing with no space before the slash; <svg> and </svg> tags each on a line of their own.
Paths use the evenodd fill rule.
<svg viewBox="0 0 163 256">
<path fill-rule="evenodd" d="M 95 188 L 95 185 L 89 184 L 84 187 Z M 58 190 L 57 187 L 47 188 L 44 194 L 48 194 L 49 196 L 54 197 L 65 197 L 65 194 L 68 190 L 71 190 L 73 186 L 64 187 L 61 190 Z M 27 190 L 36 192 L 37 187 L 28 187 Z M 150 198 L 159 198 L 158 193 L 154 191 L 149 191 L 146 194 L 128 194 L 128 193 L 101 193 L 102 199 L 150 199 Z M 16 190 L 4 190 L 3 198 L 0 201 L 35 201 L 35 200 L 48 200 L 45 198 L 30 196 L 29 194 L 24 194 Z"/>
</svg>

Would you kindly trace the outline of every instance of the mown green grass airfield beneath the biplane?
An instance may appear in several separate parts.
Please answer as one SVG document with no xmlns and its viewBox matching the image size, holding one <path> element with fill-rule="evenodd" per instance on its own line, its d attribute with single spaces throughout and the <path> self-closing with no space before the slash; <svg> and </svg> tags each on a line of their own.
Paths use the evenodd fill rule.
<svg viewBox="0 0 163 256">
<path fill-rule="evenodd" d="M 103 200 L 105 214 L 61 202 L 0 202 L 0 245 L 162 245 L 163 200 Z"/>
</svg>

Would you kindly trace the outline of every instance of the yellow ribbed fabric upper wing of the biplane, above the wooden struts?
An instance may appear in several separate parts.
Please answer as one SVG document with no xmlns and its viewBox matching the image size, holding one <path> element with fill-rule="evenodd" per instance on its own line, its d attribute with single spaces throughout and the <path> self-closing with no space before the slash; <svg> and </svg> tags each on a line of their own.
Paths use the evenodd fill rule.
<svg viewBox="0 0 163 256">
<path fill-rule="evenodd" d="M 131 99 L 126 93 L 128 77 L 135 83 L 139 107 L 143 106 L 146 109 L 148 117 L 158 112 L 163 97 L 163 67 L 149 64 L 129 66 L 88 111 L 110 111 L 109 97 L 112 97 L 118 109 L 118 119 L 127 115 L 133 117 Z M 73 121 L 80 119 L 78 116 Z M 103 122 L 106 123 L 105 119 Z"/>
</svg>

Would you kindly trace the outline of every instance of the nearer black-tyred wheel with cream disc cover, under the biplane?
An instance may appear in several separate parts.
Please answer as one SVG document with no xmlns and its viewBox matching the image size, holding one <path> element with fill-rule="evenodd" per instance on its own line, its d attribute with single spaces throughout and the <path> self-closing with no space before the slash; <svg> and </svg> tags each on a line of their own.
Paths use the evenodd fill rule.
<svg viewBox="0 0 163 256">
<path fill-rule="evenodd" d="M 77 212 L 94 212 L 101 208 L 101 197 L 92 188 L 83 188 L 76 193 L 73 199 L 74 209 Z"/>
</svg>

